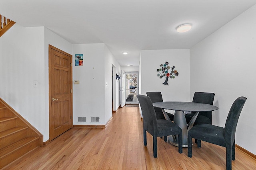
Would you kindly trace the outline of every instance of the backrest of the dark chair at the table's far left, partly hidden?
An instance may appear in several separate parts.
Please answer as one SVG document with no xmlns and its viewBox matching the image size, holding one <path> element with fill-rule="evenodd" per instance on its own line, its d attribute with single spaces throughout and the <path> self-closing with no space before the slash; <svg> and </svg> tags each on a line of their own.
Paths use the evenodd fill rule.
<svg viewBox="0 0 256 170">
<path fill-rule="evenodd" d="M 147 96 L 150 97 L 152 103 L 163 101 L 161 92 L 147 92 L 146 94 L 147 94 Z M 156 112 L 156 119 L 165 119 L 161 108 L 154 107 L 154 109 L 155 109 L 155 112 Z"/>
</svg>

